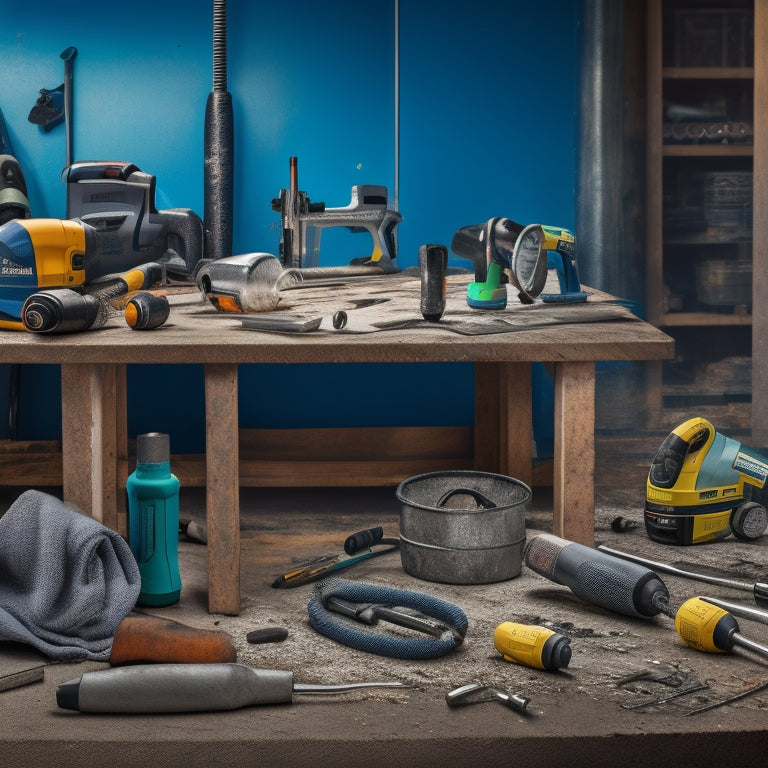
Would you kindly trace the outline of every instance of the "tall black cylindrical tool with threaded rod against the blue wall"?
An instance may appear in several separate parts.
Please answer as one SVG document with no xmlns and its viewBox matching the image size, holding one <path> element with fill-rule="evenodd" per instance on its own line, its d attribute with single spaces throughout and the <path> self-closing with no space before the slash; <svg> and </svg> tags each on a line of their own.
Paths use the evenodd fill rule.
<svg viewBox="0 0 768 768">
<path fill-rule="evenodd" d="M 227 91 L 227 3 L 213 2 L 213 90 L 205 105 L 205 256 L 232 255 L 234 117 Z"/>
</svg>

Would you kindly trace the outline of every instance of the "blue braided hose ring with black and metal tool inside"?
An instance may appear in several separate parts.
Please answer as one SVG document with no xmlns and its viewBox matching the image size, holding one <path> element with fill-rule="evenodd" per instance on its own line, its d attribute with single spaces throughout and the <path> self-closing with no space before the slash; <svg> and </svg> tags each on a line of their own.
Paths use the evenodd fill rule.
<svg viewBox="0 0 768 768">
<path fill-rule="evenodd" d="M 307 606 L 312 626 L 342 645 L 395 659 L 434 659 L 457 648 L 468 621 L 453 603 L 420 592 L 376 584 L 325 579 Z M 424 633 L 428 637 L 396 636 L 362 629 L 339 617 L 368 626 L 379 621 Z"/>
</svg>

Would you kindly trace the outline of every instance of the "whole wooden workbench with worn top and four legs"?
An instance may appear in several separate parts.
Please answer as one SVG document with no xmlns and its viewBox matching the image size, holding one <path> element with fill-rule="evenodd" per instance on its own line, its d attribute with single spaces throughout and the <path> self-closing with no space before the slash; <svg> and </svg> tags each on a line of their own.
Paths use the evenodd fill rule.
<svg viewBox="0 0 768 768">
<path fill-rule="evenodd" d="M 0 363 L 61 365 L 63 495 L 115 528 L 127 467 L 126 365 L 203 364 L 208 606 L 214 613 L 235 615 L 240 610 L 239 364 L 474 363 L 474 468 L 527 483 L 532 478 L 531 364 L 550 364 L 553 530 L 592 544 L 595 361 L 670 358 L 672 339 L 629 315 L 582 322 L 586 310 L 578 305 L 570 310 L 570 319 L 563 316 L 554 324 L 541 307 L 534 307 L 530 327 L 523 323 L 508 332 L 498 332 L 498 327 L 487 333 L 477 328 L 457 332 L 462 318 L 470 325 L 478 317 L 464 301 L 468 279 L 449 278 L 446 312 L 436 324 L 421 318 L 418 278 L 388 276 L 378 279 L 383 282 L 376 290 L 384 297 L 379 303 L 370 301 L 371 283 L 361 281 L 342 289 L 330 285 L 289 291 L 281 298 L 281 312 L 296 316 L 348 308 L 349 324 L 342 330 L 325 321 L 310 333 L 246 330 L 240 317 L 218 314 L 193 296 L 174 304 L 169 322 L 152 332 L 131 331 L 119 319 L 96 331 L 63 336 L 2 332 Z M 395 292 L 401 293 L 400 303 L 390 308 L 386 297 Z M 356 297 L 365 300 L 356 302 Z M 610 305 L 610 298 L 593 293 L 590 303 Z M 361 304 L 367 309 L 354 309 Z M 505 312 L 529 309 L 510 306 Z M 499 313 L 493 314 L 498 319 Z M 395 322 L 388 322 L 392 318 Z M 492 319 L 488 316 L 488 322 Z M 377 320 L 384 320 L 387 330 L 377 329 Z M 90 412 L 84 403 L 90 403 Z M 396 400 L 392 404 L 396 407 Z M 351 465 L 350 485 L 354 478 Z"/>
</svg>

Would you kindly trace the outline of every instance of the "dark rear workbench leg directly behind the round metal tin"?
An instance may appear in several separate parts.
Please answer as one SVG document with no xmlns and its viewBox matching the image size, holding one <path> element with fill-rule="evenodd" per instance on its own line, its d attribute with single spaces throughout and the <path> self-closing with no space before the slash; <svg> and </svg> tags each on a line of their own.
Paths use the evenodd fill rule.
<svg viewBox="0 0 768 768">
<path fill-rule="evenodd" d="M 475 469 L 533 480 L 530 363 L 475 364 Z"/>
</svg>

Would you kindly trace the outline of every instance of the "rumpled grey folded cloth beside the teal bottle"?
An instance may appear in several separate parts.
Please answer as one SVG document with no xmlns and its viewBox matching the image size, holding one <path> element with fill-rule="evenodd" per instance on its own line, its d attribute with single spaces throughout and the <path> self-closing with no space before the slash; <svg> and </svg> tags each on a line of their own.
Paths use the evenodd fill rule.
<svg viewBox="0 0 768 768">
<path fill-rule="evenodd" d="M 0 517 L 0 640 L 56 661 L 108 660 L 140 589 L 120 534 L 55 496 L 25 491 Z"/>
</svg>

